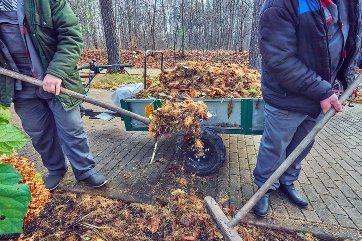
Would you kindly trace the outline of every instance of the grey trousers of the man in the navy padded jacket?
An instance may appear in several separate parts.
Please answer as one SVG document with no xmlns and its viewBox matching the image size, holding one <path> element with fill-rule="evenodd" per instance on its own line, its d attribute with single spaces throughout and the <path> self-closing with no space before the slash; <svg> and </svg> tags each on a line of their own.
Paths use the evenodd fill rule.
<svg viewBox="0 0 362 241">
<path fill-rule="evenodd" d="M 253 171 L 254 183 L 262 186 L 282 162 L 290 155 L 304 137 L 322 118 L 316 119 L 295 111 L 281 110 L 265 103 L 265 130 L 263 132 L 256 167 Z M 279 184 L 291 185 L 300 174 L 301 162 L 312 149 L 314 140 L 295 159 L 270 189 L 278 189 Z"/>
</svg>

